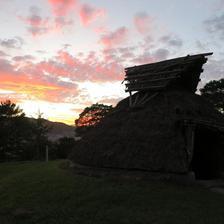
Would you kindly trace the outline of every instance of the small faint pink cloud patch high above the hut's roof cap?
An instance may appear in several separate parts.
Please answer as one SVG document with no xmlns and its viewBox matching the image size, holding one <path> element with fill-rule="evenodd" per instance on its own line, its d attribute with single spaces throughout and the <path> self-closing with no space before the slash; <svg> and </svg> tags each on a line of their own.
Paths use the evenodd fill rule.
<svg viewBox="0 0 224 224">
<path fill-rule="evenodd" d="M 141 34 L 147 34 L 152 28 L 153 18 L 145 12 L 139 12 L 134 17 L 134 25 Z"/>
</svg>

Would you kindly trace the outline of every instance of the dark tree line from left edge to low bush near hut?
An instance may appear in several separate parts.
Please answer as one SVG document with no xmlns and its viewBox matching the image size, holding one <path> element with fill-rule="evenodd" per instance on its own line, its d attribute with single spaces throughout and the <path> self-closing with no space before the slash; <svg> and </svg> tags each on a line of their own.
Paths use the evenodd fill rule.
<svg viewBox="0 0 224 224">
<path fill-rule="evenodd" d="M 30 119 L 15 103 L 7 100 L 0 104 L 0 162 L 17 160 L 44 160 L 46 146 L 49 158 L 67 158 L 74 146 L 73 138 L 62 138 L 50 142 L 47 133 L 50 130 L 38 114 Z"/>
</svg>

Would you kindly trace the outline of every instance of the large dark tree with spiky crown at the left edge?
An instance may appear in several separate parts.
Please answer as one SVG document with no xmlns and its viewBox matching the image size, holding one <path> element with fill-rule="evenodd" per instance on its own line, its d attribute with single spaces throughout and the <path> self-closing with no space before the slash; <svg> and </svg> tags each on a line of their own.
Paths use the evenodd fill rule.
<svg viewBox="0 0 224 224">
<path fill-rule="evenodd" d="M 30 122 L 10 100 L 0 104 L 0 160 L 20 159 L 31 142 Z"/>
</svg>

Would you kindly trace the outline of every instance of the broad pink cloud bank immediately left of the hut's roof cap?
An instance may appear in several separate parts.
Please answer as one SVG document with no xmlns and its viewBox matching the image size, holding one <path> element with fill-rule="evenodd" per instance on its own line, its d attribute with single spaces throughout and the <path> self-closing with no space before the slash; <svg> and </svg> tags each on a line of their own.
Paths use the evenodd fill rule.
<svg viewBox="0 0 224 224">
<path fill-rule="evenodd" d="M 55 70 L 54 74 L 64 74 L 72 81 L 115 81 L 121 80 L 123 66 L 117 61 L 100 60 L 95 52 L 90 52 L 82 61 L 68 52 L 61 50 L 55 60 L 60 62 L 51 63 Z M 53 69 L 51 67 L 51 69 Z M 52 70 L 51 70 L 52 71 Z M 50 72 L 50 70 L 48 70 Z"/>
</svg>

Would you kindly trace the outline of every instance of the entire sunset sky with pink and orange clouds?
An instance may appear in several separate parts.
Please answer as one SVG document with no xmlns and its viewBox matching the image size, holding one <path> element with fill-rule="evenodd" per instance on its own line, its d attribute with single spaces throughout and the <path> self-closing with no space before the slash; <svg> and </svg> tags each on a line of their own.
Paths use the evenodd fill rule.
<svg viewBox="0 0 224 224">
<path fill-rule="evenodd" d="M 224 0 L 0 0 L 0 101 L 74 124 L 126 97 L 124 68 L 213 52 L 224 77 Z"/>
</svg>

